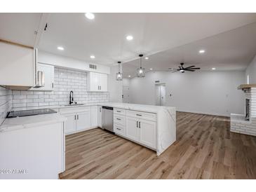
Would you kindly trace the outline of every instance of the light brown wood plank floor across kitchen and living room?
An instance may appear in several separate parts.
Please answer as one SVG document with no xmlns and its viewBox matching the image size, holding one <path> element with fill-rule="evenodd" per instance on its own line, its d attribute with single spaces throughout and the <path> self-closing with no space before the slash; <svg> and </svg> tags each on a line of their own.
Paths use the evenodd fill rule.
<svg viewBox="0 0 256 192">
<path fill-rule="evenodd" d="M 161 156 L 100 128 L 66 137 L 61 179 L 256 179 L 256 137 L 229 118 L 177 112 L 177 141 Z"/>
</svg>

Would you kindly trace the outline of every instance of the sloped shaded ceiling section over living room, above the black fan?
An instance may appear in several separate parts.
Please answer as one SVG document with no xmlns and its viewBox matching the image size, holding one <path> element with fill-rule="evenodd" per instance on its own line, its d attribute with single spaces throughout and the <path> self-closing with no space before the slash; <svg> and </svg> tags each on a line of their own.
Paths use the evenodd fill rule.
<svg viewBox="0 0 256 192">
<path fill-rule="evenodd" d="M 206 50 L 199 54 L 198 50 Z M 201 70 L 244 70 L 252 57 L 256 55 L 256 22 L 229 32 L 217 34 L 184 46 L 165 50 L 149 56 L 149 60 L 142 60 L 143 67 L 149 71 L 166 71 L 177 68 L 180 62 L 185 66 L 191 64 L 201 67 Z M 123 64 L 123 76 L 135 76 L 140 60 L 133 60 Z"/>
</svg>

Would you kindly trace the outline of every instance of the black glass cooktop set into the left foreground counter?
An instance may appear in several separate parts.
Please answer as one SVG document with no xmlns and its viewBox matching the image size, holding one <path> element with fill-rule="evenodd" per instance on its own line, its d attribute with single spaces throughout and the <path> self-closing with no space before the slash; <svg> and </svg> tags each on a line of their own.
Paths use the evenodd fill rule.
<svg viewBox="0 0 256 192">
<path fill-rule="evenodd" d="M 53 109 L 34 109 L 24 111 L 10 111 L 6 118 L 21 117 L 21 116 L 36 116 L 42 114 L 55 114 L 57 111 Z"/>
</svg>

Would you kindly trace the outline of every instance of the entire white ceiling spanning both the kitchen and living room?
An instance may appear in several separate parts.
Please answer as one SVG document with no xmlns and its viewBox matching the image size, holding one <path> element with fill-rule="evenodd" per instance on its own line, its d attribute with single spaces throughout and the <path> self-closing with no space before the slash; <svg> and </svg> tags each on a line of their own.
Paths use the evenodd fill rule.
<svg viewBox="0 0 256 192">
<path fill-rule="evenodd" d="M 41 17 L 0 13 L 0 38 L 33 46 Z M 109 66 L 128 62 L 125 75 L 134 72 L 138 62 L 129 61 L 138 53 L 150 55 L 147 69 L 166 70 L 182 60 L 203 69 L 241 70 L 255 54 L 253 22 L 255 13 L 95 13 L 95 20 L 83 13 L 50 13 L 39 49 Z M 126 40 L 128 34 L 133 41 Z M 199 48 L 206 54 L 198 55 Z"/>
</svg>

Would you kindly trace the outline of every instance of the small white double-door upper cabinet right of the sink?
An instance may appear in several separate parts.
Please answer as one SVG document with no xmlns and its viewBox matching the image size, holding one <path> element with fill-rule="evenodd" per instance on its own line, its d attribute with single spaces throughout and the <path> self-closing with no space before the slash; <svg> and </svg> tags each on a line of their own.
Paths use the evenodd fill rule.
<svg viewBox="0 0 256 192">
<path fill-rule="evenodd" d="M 88 72 L 88 74 L 87 74 L 87 91 L 107 92 L 107 74 Z"/>
</svg>

